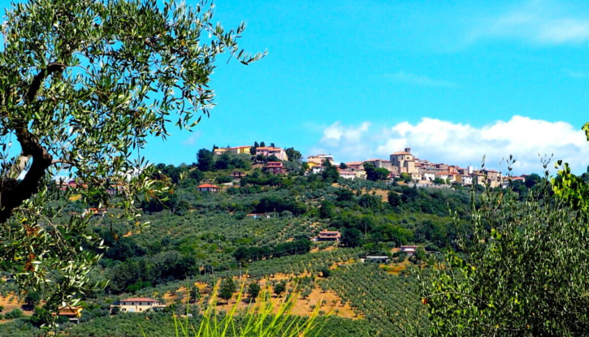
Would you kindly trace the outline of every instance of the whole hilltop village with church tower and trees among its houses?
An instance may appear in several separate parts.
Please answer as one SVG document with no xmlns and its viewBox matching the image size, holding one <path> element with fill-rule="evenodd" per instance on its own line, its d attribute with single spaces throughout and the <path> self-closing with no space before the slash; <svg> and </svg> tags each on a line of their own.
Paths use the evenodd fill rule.
<svg viewBox="0 0 589 337">
<path fill-rule="evenodd" d="M 290 148 L 290 151 L 294 151 Z M 298 151 L 294 151 L 299 154 Z M 213 154 L 246 154 L 252 155 L 254 162 L 263 164 L 263 169 L 269 174 L 284 175 L 292 172 L 284 165 L 284 162 L 292 161 L 287 151 L 283 148 L 272 146 L 236 146 L 226 148 L 214 148 Z M 300 160 L 302 158 L 296 158 Z M 329 163 L 329 164 L 327 164 Z M 326 165 L 336 166 L 339 176 L 346 179 L 370 179 L 370 171 L 378 171 L 379 180 L 404 181 L 413 183 L 418 187 L 452 185 L 472 186 L 487 185 L 491 188 L 505 187 L 509 179 L 511 181 L 525 182 L 525 175 L 502 176 L 501 172 L 494 169 L 474 169 L 472 166 L 462 168 L 458 165 L 432 163 L 425 159 L 416 158 L 411 153 L 411 148 L 393 152 L 389 159 L 368 159 L 363 161 L 342 162 L 337 164 L 332 155 L 316 154 L 307 156 L 303 163 L 304 175 L 319 174 L 326 169 Z M 386 170 L 386 171 L 384 171 Z M 240 178 L 244 173 L 234 172 L 234 178 Z"/>
</svg>

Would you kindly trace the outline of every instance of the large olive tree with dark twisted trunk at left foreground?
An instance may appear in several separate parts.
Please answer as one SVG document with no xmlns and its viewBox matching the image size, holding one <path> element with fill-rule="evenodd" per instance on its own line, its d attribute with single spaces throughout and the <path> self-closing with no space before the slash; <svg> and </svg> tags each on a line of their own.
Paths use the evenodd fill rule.
<svg viewBox="0 0 589 337">
<path fill-rule="evenodd" d="M 100 239 L 72 195 L 138 222 L 136 196 L 169 188 L 141 156 L 150 137 L 209 116 L 217 56 L 239 49 L 212 6 L 174 0 L 28 0 L 7 9 L 0 45 L 0 268 L 49 302 L 90 286 Z M 57 176 L 75 178 L 62 191 Z M 116 189 L 112 198 L 109 190 Z"/>
</svg>

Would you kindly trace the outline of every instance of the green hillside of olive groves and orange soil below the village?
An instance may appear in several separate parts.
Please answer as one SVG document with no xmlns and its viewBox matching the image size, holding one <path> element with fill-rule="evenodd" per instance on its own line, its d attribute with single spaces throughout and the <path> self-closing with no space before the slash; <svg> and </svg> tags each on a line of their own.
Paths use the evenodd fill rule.
<svg viewBox="0 0 589 337">
<path fill-rule="evenodd" d="M 117 219 L 116 209 L 95 216 L 91 230 L 109 248 L 94 278 L 109 283 L 82 302 L 80 324 L 71 333 L 110 337 L 118 329 L 140 336 L 124 327 L 132 322 L 151 326 L 141 321 L 144 315 L 165 321 L 170 313 L 186 312 L 187 288 L 198 292 L 190 306 L 200 311 L 215 286 L 230 278 L 237 289 L 258 283 L 273 292 L 283 283 L 284 292 L 275 300 L 296 291 L 294 315 L 309 315 L 321 306 L 322 315 L 330 313 L 326 319 L 332 327 L 325 336 L 334 331 L 338 336 L 397 335 L 409 316 L 426 322 L 412 271 L 427 272 L 436 262 L 435 252 L 469 231 L 471 196 L 466 191 L 347 179 L 332 183 L 320 175 L 269 176 L 252 168 L 219 192 L 201 192 L 200 183 L 223 180 L 231 169 L 198 175 L 190 173 L 194 168 L 185 170 L 188 178 L 178 175 L 173 202 L 143 202 L 141 218 L 149 226 Z M 394 206 L 389 195 L 397 197 Z M 82 199 L 70 202 L 68 211 L 91 206 Z M 462 220 L 453 222 L 449 209 Z M 339 232 L 341 240 L 311 240 L 325 230 Z M 401 245 L 422 246 L 425 255 L 408 258 L 399 251 Z M 389 256 L 391 262 L 360 262 L 366 255 Z M 236 295 L 237 290 L 233 299 L 220 302 L 219 311 L 229 310 Z M 167 309 L 112 315 L 110 305 L 135 297 L 159 299 Z M 237 305 L 241 310 L 247 302 Z M 17 319 L 0 325 L 0 336 L 14 336 L 17 327 L 22 336 L 35 331 L 26 319 Z M 170 322 L 150 329 L 154 336 L 166 335 Z"/>
</svg>

